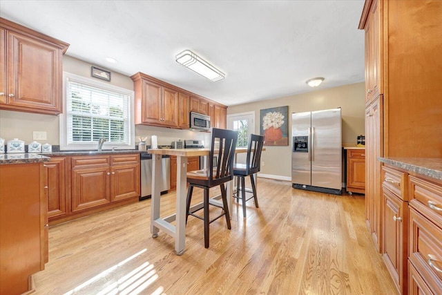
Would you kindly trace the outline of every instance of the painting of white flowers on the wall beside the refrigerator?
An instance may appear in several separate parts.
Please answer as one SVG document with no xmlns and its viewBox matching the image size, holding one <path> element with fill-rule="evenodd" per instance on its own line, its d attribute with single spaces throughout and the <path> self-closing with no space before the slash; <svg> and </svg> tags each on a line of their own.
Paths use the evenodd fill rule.
<svg viewBox="0 0 442 295">
<path fill-rule="evenodd" d="M 260 110 L 260 131 L 265 146 L 289 145 L 289 106 Z"/>
</svg>

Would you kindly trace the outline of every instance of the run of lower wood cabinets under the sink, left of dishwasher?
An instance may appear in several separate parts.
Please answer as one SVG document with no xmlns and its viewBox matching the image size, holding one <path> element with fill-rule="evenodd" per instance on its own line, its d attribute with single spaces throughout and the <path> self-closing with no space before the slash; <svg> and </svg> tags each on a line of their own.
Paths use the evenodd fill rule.
<svg viewBox="0 0 442 295">
<path fill-rule="evenodd" d="M 75 155 L 52 158 L 48 171 L 50 225 L 137 202 L 140 155 Z"/>
</svg>

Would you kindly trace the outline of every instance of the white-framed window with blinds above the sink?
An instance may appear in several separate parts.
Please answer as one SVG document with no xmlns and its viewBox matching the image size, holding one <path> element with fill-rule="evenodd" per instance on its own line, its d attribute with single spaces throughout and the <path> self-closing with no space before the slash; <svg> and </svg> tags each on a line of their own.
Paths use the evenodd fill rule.
<svg viewBox="0 0 442 295">
<path fill-rule="evenodd" d="M 65 147 L 131 145 L 131 100 L 127 89 L 65 73 Z M 61 144 L 62 145 L 62 144 Z"/>
</svg>

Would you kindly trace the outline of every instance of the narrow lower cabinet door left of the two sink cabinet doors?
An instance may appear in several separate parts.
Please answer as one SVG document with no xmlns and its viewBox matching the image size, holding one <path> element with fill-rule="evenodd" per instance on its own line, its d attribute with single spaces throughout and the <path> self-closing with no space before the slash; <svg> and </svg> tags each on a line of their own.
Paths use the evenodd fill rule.
<svg viewBox="0 0 442 295">
<path fill-rule="evenodd" d="M 44 164 L 48 178 L 48 216 L 65 216 L 66 209 L 66 158 L 50 158 Z"/>
</svg>

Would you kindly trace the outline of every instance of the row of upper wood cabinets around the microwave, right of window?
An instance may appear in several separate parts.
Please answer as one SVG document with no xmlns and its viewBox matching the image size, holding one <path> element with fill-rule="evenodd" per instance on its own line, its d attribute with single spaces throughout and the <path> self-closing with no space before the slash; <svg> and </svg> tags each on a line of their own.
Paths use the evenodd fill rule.
<svg viewBox="0 0 442 295">
<path fill-rule="evenodd" d="M 209 115 L 213 127 L 226 128 L 227 106 L 143 73 L 131 78 L 135 91 L 135 124 L 189 129 L 190 112 L 195 112 Z"/>
</svg>

